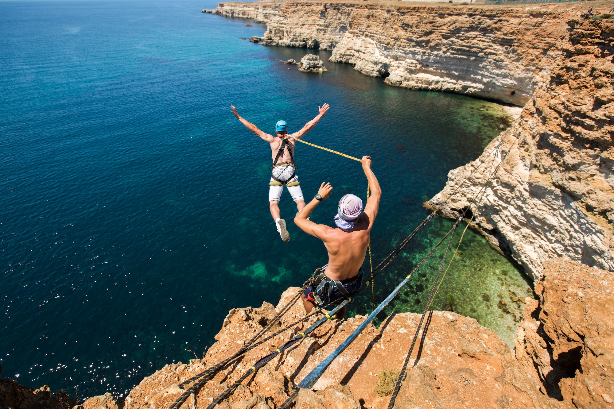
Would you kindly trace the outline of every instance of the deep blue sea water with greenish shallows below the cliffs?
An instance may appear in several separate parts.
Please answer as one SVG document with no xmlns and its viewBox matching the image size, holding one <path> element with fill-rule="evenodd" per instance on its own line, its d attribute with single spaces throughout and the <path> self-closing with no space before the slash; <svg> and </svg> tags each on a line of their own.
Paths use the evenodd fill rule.
<svg viewBox="0 0 614 409">
<path fill-rule="evenodd" d="M 330 103 L 305 139 L 373 157 L 384 192 L 375 263 L 424 219 L 421 203 L 449 169 L 508 124 L 495 104 L 389 87 L 344 64 L 298 72 L 278 59 L 305 50 L 242 40 L 264 26 L 201 14 L 212 7 L 0 2 L 2 376 L 79 386 L 81 396 L 125 394 L 164 364 L 201 356 L 231 308 L 276 303 L 326 262 L 324 246 L 290 222 L 287 192 L 292 240 L 279 239 L 268 212 L 270 151 L 230 104 L 263 130 L 284 119 L 293 131 Z M 296 158 L 307 198 L 322 181 L 335 188 L 313 220 L 332 224 L 344 193 L 366 196 L 359 163 L 308 146 Z M 451 224 L 424 228 L 378 277 L 376 301 Z M 433 306 L 510 341 L 519 315 L 511 293 L 525 295 L 526 281 L 470 231 L 461 251 Z M 435 263 L 395 310 L 422 310 Z M 364 294 L 351 310 L 370 306 Z"/>
</svg>

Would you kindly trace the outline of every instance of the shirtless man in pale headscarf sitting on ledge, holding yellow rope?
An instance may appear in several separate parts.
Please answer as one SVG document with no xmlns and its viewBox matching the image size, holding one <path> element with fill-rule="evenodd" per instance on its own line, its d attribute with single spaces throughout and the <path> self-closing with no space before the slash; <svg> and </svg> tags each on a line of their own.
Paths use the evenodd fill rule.
<svg viewBox="0 0 614 409">
<path fill-rule="evenodd" d="M 335 302 L 362 286 L 362 263 L 365 261 L 367 246 L 371 240 L 371 227 L 378 215 L 379 199 L 382 195 L 378 179 L 371 171 L 370 157 L 362 157 L 362 169 L 371 189 L 371 196 L 364 211 L 362 200 L 349 193 L 337 203 L 338 213 L 335 214 L 334 220 L 338 228 L 308 220 L 317 204 L 328 198 L 333 190 L 330 184 L 322 182 L 317 195 L 294 217 L 297 226 L 303 232 L 322 240 L 328 251 L 328 264 L 322 267 L 322 273 L 301 295 L 308 313 L 314 306 Z M 335 317 L 343 319 L 345 311 L 345 307 L 341 308 Z"/>
</svg>

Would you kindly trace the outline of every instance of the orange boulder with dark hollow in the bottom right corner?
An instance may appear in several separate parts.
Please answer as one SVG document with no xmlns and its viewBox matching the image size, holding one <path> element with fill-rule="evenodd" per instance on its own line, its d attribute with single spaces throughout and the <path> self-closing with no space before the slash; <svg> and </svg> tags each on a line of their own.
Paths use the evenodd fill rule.
<svg viewBox="0 0 614 409">
<path fill-rule="evenodd" d="M 544 263 L 527 303 L 515 358 L 544 395 L 578 408 L 614 403 L 614 275 L 573 262 Z M 530 388 L 530 385 L 527 386 Z"/>
</svg>

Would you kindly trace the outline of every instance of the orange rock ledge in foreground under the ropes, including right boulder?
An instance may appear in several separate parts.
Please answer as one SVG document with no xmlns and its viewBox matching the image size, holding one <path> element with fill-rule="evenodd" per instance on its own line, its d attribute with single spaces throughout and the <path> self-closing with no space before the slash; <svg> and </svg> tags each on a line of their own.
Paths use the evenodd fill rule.
<svg viewBox="0 0 614 409">
<path fill-rule="evenodd" d="M 475 319 L 433 311 L 419 335 L 406 380 L 397 397 L 400 408 L 600 408 L 614 397 L 614 276 L 570 259 L 545 263 L 544 279 L 527 299 L 515 349 Z M 277 309 L 298 288 L 288 289 Z M 273 306 L 231 310 L 204 359 L 166 365 L 130 392 L 126 408 L 163 409 L 179 397 L 182 381 L 224 359 L 273 317 Z M 282 318 L 287 325 L 303 317 L 295 305 Z M 365 317 L 328 321 L 303 342 L 271 360 L 220 404 L 223 409 L 275 409 L 307 375 L 348 337 Z M 379 329 L 369 325 L 335 359 L 314 386 L 301 390 L 297 408 L 383 408 L 390 397 L 375 392 L 379 373 L 402 367 L 418 314 L 388 317 Z M 218 373 L 185 409 L 203 408 L 270 351 L 300 332 L 299 324 L 246 354 Z"/>
</svg>

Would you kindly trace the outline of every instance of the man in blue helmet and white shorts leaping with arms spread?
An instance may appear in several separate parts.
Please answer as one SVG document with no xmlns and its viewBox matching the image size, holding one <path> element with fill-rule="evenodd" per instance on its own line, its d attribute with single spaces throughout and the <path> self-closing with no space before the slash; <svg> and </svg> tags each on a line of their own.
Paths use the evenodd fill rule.
<svg viewBox="0 0 614 409">
<path fill-rule="evenodd" d="M 279 235 L 281 235 L 281 240 L 283 240 L 284 243 L 288 243 L 288 241 L 290 241 L 290 234 L 286 229 L 286 220 L 281 219 L 278 206 L 279 200 L 281 199 L 281 193 L 284 190 L 284 185 L 286 185 L 288 192 L 292 195 L 292 200 L 297 203 L 298 211 L 301 211 L 301 209 L 305 207 L 303 192 L 301 191 L 298 176 L 295 172 L 297 166 L 294 163 L 294 144 L 296 143 L 294 139 L 303 138 L 303 135 L 308 133 L 311 128 L 315 127 L 316 123 L 326 114 L 329 106 L 328 104 L 324 104 L 322 107 L 317 107 L 320 113 L 317 114 L 314 119 L 306 123 L 305 127 L 300 131 L 290 135 L 288 135 L 288 124 L 286 121 L 279 120 L 275 124 L 276 136 L 259 130 L 256 125 L 241 117 L 241 115 L 236 112 L 234 106 L 231 105 L 230 108 L 236 119 L 241 121 L 247 129 L 260 136 L 260 138 L 264 139 L 266 142 L 269 142 L 271 146 L 273 165 L 270 166 L 269 209 L 271 211 L 271 216 L 273 216 L 273 220 L 275 220 L 277 231 Z"/>
</svg>

